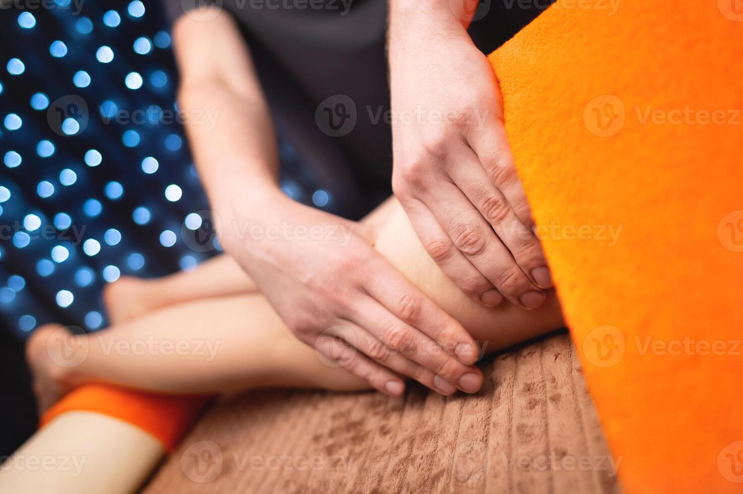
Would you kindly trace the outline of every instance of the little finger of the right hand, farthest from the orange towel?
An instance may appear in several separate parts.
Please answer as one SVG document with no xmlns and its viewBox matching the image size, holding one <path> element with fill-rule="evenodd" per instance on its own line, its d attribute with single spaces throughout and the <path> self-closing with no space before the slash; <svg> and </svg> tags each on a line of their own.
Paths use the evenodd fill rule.
<svg viewBox="0 0 743 494">
<path fill-rule="evenodd" d="M 405 212 L 431 259 L 436 261 L 464 293 L 489 307 L 503 302 L 501 293 L 454 246 L 452 239 L 425 204 L 413 198 L 407 204 Z"/>
</svg>

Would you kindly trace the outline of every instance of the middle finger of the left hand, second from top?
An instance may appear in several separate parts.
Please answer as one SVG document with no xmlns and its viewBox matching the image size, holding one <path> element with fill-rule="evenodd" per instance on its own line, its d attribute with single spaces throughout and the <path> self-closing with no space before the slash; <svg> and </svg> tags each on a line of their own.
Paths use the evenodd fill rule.
<svg viewBox="0 0 743 494">
<path fill-rule="evenodd" d="M 435 374 L 433 389 L 446 390 L 448 383 L 467 393 L 474 393 L 482 386 L 482 375 L 478 368 L 464 365 L 452 357 L 441 345 L 400 320 L 379 301 L 366 297 L 356 304 L 356 308 L 354 321 L 362 328 L 377 337 L 389 350 Z M 421 383 L 430 387 L 429 383 Z"/>
</svg>

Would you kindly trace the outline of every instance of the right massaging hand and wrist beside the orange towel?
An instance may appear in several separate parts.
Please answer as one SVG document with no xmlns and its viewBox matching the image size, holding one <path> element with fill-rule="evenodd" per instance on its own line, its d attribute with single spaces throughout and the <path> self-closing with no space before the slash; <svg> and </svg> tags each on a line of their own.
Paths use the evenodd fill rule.
<svg viewBox="0 0 743 494">
<path fill-rule="evenodd" d="M 551 276 L 503 123 L 501 92 L 455 0 L 392 0 L 392 186 L 430 256 L 484 305 L 544 302 Z"/>
</svg>

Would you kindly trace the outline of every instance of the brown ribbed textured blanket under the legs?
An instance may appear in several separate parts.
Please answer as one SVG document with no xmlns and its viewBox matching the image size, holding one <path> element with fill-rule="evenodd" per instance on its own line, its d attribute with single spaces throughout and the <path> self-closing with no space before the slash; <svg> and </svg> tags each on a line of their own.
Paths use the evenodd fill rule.
<svg viewBox="0 0 743 494">
<path fill-rule="evenodd" d="M 619 493 L 568 335 L 489 357 L 481 392 L 254 391 L 218 403 L 145 492 Z M 617 465 L 618 464 L 618 465 Z"/>
</svg>

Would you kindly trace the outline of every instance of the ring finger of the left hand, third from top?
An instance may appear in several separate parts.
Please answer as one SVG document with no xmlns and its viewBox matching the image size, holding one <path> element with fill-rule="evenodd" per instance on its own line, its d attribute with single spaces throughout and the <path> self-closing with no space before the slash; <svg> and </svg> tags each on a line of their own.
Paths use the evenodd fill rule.
<svg viewBox="0 0 743 494">
<path fill-rule="evenodd" d="M 328 333 L 334 334 L 351 347 L 357 348 L 373 362 L 403 376 L 411 377 L 434 391 L 446 395 L 453 394 L 456 391 L 455 387 L 448 383 L 444 383 L 445 386 L 436 386 L 435 374 L 432 371 L 387 348 L 380 339 L 353 322 L 344 322 L 343 325 L 334 327 Z"/>
</svg>

